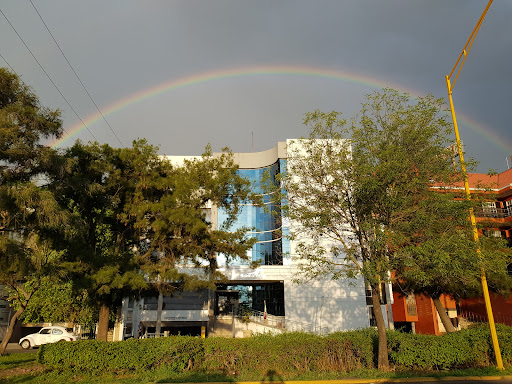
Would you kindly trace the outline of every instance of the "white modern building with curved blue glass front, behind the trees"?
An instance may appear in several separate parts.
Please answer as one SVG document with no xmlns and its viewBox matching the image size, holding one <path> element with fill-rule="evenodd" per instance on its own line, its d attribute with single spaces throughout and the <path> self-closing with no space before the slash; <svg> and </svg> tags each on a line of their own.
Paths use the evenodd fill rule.
<svg viewBox="0 0 512 384">
<path fill-rule="evenodd" d="M 288 237 L 290 224 L 286 219 L 276 220 L 271 212 L 279 213 L 280 207 L 272 201 L 271 196 L 265 195 L 261 185 L 265 173 L 273 176 L 286 168 L 291 145 L 291 141 L 279 142 L 263 152 L 234 153 L 240 175 L 251 181 L 253 191 L 261 194 L 268 205 L 268 209 L 244 205 L 234 225 L 234 229 L 254 228 L 250 235 L 256 237 L 258 242 L 249 251 L 249 256 L 259 266 L 253 269 L 248 262 L 236 261 L 226 266 L 219 256 L 220 269 L 228 282 L 218 284 L 216 291 L 185 292 L 179 297 L 163 297 L 162 333 L 200 334 L 203 326 L 209 335 L 215 335 L 222 327 L 229 330 L 230 325 L 233 327 L 235 324 L 236 328 L 237 322 L 230 323 L 235 308 L 238 314 L 245 314 L 246 320 L 251 320 L 251 327 L 246 323 L 244 329 L 258 330 L 254 324 L 261 323 L 276 331 L 303 329 L 329 333 L 373 325 L 371 297 L 367 297 L 369 291 L 361 278 L 316 280 L 300 285 L 293 281 L 299 260 L 294 257 L 296 244 Z M 170 161 L 176 163 L 182 159 L 169 157 Z M 224 213 L 214 207 L 210 209 L 212 220 L 217 220 L 217 225 L 222 223 Z M 387 300 L 384 299 L 382 310 L 386 320 L 392 322 L 391 305 L 386 305 L 391 304 L 390 296 L 385 296 Z M 139 330 L 143 334 L 154 333 L 159 313 L 157 309 L 157 298 L 140 301 L 125 299 L 114 339 L 137 337 Z"/>
</svg>

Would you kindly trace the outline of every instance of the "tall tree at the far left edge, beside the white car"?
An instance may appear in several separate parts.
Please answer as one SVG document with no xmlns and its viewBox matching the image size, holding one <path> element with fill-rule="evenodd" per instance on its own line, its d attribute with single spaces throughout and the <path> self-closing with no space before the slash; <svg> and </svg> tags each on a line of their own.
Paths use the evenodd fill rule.
<svg viewBox="0 0 512 384">
<path fill-rule="evenodd" d="M 18 76 L 0 68 L 0 284 L 17 309 L 0 354 L 41 279 L 61 274 L 63 252 L 54 250 L 48 234 L 65 226 L 67 216 L 45 188 L 54 151 L 41 144 L 62 134 L 59 116 L 42 107 Z"/>
</svg>

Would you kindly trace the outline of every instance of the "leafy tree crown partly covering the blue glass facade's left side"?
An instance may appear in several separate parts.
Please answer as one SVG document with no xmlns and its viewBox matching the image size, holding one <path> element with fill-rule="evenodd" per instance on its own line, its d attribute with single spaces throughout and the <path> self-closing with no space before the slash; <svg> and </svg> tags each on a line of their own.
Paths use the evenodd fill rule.
<svg viewBox="0 0 512 384">
<path fill-rule="evenodd" d="M 214 289 L 225 278 L 217 255 L 245 260 L 256 241 L 246 236 L 247 228 L 230 231 L 240 204 L 250 198 L 249 182 L 237 174 L 229 151 L 213 155 L 209 146 L 182 165 L 152 163 L 153 177 L 136 188 L 125 216 L 137 230 L 141 268 L 163 294 Z M 211 217 L 215 207 L 226 213 L 219 225 Z"/>
</svg>

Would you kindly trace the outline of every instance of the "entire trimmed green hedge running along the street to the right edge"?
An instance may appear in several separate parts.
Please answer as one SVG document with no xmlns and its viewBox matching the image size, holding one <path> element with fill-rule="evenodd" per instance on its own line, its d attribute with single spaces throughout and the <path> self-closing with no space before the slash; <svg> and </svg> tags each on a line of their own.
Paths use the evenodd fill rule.
<svg viewBox="0 0 512 384">
<path fill-rule="evenodd" d="M 497 325 L 503 361 L 512 363 L 512 327 Z M 318 336 L 308 333 L 256 335 L 248 339 L 177 336 L 47 344 L 40 363 L 79 371 L 139 371 L 166 366 L 224 375 L 351 372 L 376 366 L 377 332 L 366 329 Z M 444 336 L 388 332 L 390 364 L 398 370 L 436 370 L 494 365 L 486 325 Z"/>
</svg>

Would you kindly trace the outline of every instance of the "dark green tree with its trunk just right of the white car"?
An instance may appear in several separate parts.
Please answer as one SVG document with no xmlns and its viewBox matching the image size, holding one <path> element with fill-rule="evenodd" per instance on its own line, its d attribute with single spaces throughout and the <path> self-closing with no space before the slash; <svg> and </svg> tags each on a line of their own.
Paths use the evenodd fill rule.
<svg viewBox="0 0 512 384">
<path fill-rule="evenodd" d="M 62 153 L 51 175 L 52 192 L 73 218 L 72 235 L 61 233 L 60 244 L 68 250 L 75 288 L 86 290 L 98 305 L 97 337 L 104 341 L 110 307 L 147 289 L 135 259 L 138 243 L 133 223 L 122 220 L 135 185 L 143 182 L 134 174 L 133 164 L 139 165 L 139 172 L 149 172 L 151 166 L 144 161 L 145 150 L 152 149 L 137 145 L 114 149 L 77 142 Z"/>
</svg>

